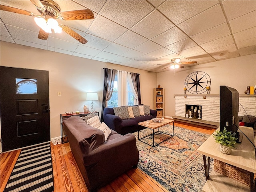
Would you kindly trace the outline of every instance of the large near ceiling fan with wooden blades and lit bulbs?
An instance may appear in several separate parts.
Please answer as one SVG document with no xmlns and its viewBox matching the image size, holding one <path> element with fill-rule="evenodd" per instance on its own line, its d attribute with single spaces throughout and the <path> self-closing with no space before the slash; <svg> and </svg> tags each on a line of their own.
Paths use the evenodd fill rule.
<svg viewBox="0 0 256 192">
<path fill-rule="evenodd" d="M 34 6 L 36 6 L 40 15 L 36 15 L 30 11 L 0 5 L 0 10 L 14 12 L 18 14 L 24 14 L 28 16 L 34 16 L 34 20 L 38 26 L 40 26 L 38 38 L 42 40 L 48 39 L 49 33 L 52 30 L 56 33 L 60 33 L 62 30 L 78 40 L 80 43 L 85 44 L 87 40 L 80 36 L 77 32 L 70 29 L 68 26 L 58 24 L 56 19 L 60 20 L 84 20 L 94 19 L 94 14 L 90 9 L 74 10 L 60 12 L 60 6 L 53 0 L 30 0 Z"/>
</svg>

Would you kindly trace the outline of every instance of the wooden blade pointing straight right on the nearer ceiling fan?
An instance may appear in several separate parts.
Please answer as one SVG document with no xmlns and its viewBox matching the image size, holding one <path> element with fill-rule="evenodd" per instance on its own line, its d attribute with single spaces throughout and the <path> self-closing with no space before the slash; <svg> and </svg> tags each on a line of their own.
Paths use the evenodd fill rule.
<svg viewBox="0 0 256 192">
<path fill-rule="evenodd" d="M 94 14 L 90 9 L 60 12 L 58 17 L 62 20 L 82 20 L 94 19 Z"/>
</svg>

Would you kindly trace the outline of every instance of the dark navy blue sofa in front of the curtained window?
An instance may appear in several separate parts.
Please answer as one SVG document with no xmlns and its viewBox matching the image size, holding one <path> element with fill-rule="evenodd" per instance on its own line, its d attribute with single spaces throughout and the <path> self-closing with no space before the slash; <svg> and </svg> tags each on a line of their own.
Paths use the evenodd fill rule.
<svg viewBox="0 0 256 192">
<path fill-rule="evenodd" d="M 144 129 L 145 127 L 138 125 L 138 122 L 152 118 L 156 118 L 156 110 L 150 109 L 150 115 L 131 119 L 121 119 L 119 116 L 116 116 L 113 108 L 104 108 L 103 111 L 103 122 L 110 129 L 115 130 L 122 135 Z"/>
</svg>

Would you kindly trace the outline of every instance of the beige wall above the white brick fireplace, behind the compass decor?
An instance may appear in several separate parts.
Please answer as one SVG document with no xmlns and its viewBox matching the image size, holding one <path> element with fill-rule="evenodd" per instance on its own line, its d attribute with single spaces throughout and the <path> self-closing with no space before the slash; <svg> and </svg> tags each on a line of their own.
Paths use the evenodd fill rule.
<svg viewBox="0 0 256 192">
<path fill-rule="evenodd" d="M 157 84 L 165 90 L 165 116 L 175 115 L 174 94 L 184 94 L 184 81 L 195 71 L 203 71 L 210 76 L 210 94 L 219 94 L 220 85 L 230 86 L 244 94 L 246 86 L 256 85 L 256 54 L 158 73 Z"/>
</svg>

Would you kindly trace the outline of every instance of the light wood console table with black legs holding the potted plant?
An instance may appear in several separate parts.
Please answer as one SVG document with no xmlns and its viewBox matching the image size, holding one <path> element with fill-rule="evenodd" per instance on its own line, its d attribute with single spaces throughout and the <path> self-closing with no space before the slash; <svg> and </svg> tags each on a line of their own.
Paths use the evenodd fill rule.
<svg viewBox="0 0 256 192">
<path fill-rule="evenodd" d="M 254 131 L 250 127 L 239 126 L 239 129 L 254 143 Z M 218 128 L 217 130 L 220 130 Z M 240 133 L 241 134 L 241 133 Z M 206 183 L 204 185 L 204 192 L 242 192 L 254 191 L 253 176 L 256 173 L 256 157 L 254 146 L 244 136 L 241 143 L 237 143 L 235 148 L 232 149 L 230 155 L 220 152 L 220 144 L 216 143 L 214 137 L 211 135 L 199 148 L 198 152 L 203 155 L 204 170 L 206 175 Z M 208 159 L 206 160 L 206 156 Z M 250 187 L 246 186 L 236 180 L 228 178 L 218 172 L 212 170 L 209 175 L 210 158 L 214 158 L 247 170 L 250 172 Z M 254 184 L 255 185 L 255 184 Z"/>
</svg>

